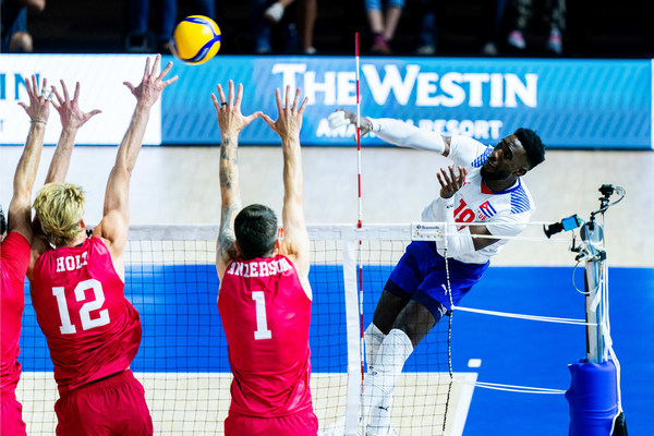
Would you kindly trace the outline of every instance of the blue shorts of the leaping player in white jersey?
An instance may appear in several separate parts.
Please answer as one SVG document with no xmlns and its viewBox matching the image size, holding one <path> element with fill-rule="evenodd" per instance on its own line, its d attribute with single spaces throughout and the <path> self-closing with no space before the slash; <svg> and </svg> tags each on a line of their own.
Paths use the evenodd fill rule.
<svg viewBox="0 0 654 436">
<path fill-rule="evenodd" d="M 448 258 L 447 262 L 452 303 L 456 306 L 480 281 L 491 262 L 464 264 L 452 258 Z M 404 255 L 390 274 L 384 289 L 407 301 L 417 301 L 427 307 L 436 319 L 439 319 L 441 305 L 448 312 L 451 310 L 446 288 L 445 258 L 436 251 L 436 243 L 414 241 L 407 246 Z"/>
</svg>

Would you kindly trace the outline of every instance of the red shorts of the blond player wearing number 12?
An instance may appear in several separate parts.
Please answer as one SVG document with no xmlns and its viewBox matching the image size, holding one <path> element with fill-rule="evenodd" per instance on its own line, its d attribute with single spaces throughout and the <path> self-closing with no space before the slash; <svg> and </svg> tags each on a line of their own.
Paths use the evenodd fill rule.
<svg viewBox="0 0 654 436">
<path fill-rule="evenodd" d="M 130 370 L 69 392 L 55 404 L 57 436 L 152 436 L 141 383 Z"/>
</svg>

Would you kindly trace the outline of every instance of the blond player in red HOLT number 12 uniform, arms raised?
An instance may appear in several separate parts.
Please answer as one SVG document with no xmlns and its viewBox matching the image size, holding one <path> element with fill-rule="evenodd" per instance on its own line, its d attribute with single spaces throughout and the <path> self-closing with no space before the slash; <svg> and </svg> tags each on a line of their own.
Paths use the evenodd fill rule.
<svg viewBox="0 0 654 436">
<path fill-rule="evenodd" d="M 141 343 L 141 319 L 124 295 L 123 250 L 130 178 L 149 111 L 177 80 L 165 81 L 172 62 L 160 74 L 159 62 L 157 56 L 150 68 L 147 59 L 138 86 L 124 83 L 136 97 L 136 108 L 109 174 L 102 220 L 92 238 L 86 237 L 82 189 L 62 182 L 72 138 L 59 144 L 47 183 L 34 201 L 28 277 L 32 303 L 55 364 L 59 436 L 153 434 L 143 386 L 130 371 Z M 65 87 L 63 93 L 64 98 L 57 95 L 59 104 L 70 105 Z"/>
</svg>

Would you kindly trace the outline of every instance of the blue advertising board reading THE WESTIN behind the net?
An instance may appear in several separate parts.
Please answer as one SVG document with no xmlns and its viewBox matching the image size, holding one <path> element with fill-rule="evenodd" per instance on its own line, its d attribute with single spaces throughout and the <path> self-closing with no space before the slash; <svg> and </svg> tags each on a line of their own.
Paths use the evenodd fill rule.
<svg viewBox="0 0 654 436">
<path fill-rule="evenodd" d="M 218 144 L 209 93 L 233 80 L 244 87 L 242 111 L 277 116 L 275 88 L 308 97 L 302 143 L 351 144 L 352 126 L 332 131 L 327 116 L 354 111 L 353 58 L 218 57 L 206 65 L 175 64 L 179 82 L 162 101 L 162 143 Z M 651 148 L 652 68 L 649 60 L 365 58 L 361 112 L 396 118 L 446 135 L 495 143 L 520 126 L 561 148 Z M 243 144 L 277 144 L 263 121 Z M 382 145 L 365 137 L 364 145 Z"/>
</svg>

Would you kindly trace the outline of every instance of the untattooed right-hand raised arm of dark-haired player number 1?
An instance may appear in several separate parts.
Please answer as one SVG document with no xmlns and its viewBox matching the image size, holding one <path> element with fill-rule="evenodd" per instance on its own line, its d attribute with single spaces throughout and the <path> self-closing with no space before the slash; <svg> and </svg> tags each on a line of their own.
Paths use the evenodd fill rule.
<svg viewBox="0 0 654 436">
<path fill-rule="evenodd" d="M 282 105 L 279 89 L 275 90 L 277 121 L 268 116 L 262 118 L 281 138 L 283 153 L 283 208 L 281 211 L 283 226 L 283 241 L 280 244 L 281 254 L 288 256 L 298 270 L 303 287 L 311 296 L 308 287 L 310 241 L 304 220 L 303 207 L 303 174 L 302 154 L 300 149 L 300 131 L 302 129 L 302 114 L 308 99 L 305 97 L 300 104 L 301 89 L 295 90 L 291 97 L 291 88 L 287 86 L 284 102 Z"/>
</svg>

